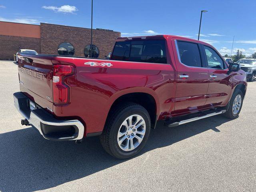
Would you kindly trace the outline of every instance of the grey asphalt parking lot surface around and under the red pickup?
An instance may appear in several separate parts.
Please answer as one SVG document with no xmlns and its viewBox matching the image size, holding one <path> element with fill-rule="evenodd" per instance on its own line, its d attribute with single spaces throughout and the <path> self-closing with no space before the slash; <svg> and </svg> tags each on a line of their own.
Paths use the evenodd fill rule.
<svg viewBox="0 0 256 192">
<path fill-rule="evenodd" d="M 256 191 L 256 81 L 239 118 L 158 125 L 145 148 L 116 160 L 98 137 L 45 140 L 14 108 L 17 65 L 0 61 L 0 191 Z"/>
</svg>

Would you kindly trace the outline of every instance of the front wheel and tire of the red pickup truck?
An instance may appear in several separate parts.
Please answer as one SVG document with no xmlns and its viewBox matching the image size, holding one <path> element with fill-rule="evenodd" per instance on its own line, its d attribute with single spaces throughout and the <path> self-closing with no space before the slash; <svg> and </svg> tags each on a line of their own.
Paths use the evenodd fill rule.
<svg viewBox="0 0 256 192">
<path fill-rule="evenodd" d="M 242 105 L 243 105 L 244 96 L 240 89 L 234 91 L 232 98 L 230 99 L 230 106 L 224 116 L 230 119 L 235 119 L 238 117 Z"/>
</svg>

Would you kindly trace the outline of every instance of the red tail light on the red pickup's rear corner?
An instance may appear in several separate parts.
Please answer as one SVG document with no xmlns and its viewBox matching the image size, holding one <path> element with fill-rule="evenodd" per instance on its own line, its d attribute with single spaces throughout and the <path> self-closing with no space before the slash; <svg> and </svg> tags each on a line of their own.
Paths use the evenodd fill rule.
<svg viewBox="0 0 256 192">
<path fill-rule="evenodd" d="M 54 65 L 52 77 L 53 102 L 66 104 L 69 102 L 69 87 L 64 84 L 64 78 L 74 74 L 72 65 Z"/>
</svg>

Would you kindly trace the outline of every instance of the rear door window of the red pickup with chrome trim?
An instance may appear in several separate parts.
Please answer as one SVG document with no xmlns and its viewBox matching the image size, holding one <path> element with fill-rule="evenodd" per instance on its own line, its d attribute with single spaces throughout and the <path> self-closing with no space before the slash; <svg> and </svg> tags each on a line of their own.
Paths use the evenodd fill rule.
<svg viewBox="0 0 256 192">
<path fill-rule="evenodd" d="M 180 62 L 186 66 L 202 67 L 198 44 L 184 41 L 177 41 L 177 44 Z"/>
</svg>

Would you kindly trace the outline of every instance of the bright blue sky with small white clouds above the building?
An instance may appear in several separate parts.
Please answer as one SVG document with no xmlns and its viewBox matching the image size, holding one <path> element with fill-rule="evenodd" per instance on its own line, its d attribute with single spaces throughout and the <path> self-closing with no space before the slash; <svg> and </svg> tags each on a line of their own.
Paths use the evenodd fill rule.
<svg viewBox="0 0 256 192">
<path fill-rule="evenodd" d="M 256 52 L 255 0 L 94 0 L 93 28 L 122 36 L 172 34 L 212 44 L 222 55 Z M 90 28 L 91 0 L 0 0 L 0 20 Z"/>
</svg>

